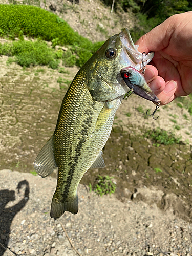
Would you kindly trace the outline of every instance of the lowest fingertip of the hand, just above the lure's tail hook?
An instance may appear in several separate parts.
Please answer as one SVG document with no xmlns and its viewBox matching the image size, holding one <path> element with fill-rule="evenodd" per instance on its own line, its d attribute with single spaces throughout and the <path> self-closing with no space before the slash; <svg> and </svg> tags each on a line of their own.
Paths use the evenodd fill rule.
<svg viewBox="0 0 192 256">
<path fill-rule="evenodd" d="M 159 100 L 161 100 L 161 105 L 166 105 L 176 98 L 175 91 L 177 88 L 177 83 L 175 81 L 168 81 L 165 83 L 164 90 L 157 94 Z"/>
</svg>

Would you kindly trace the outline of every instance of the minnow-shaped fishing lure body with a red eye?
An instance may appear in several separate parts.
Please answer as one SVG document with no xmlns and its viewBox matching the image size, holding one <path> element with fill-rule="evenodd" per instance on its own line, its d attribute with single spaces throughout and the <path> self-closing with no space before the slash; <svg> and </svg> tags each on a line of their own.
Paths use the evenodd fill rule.
<svg viewBox="0 0 192 256">
<path fill-rule="evenodd" d="M 152 92 L 150 87 L 148 87 L 144 76 L 138 70 L 129 66 L 121 69 L 120 72 L 127 87 L 133 90 L 135 94 L 156 104 L 161 103 L 161 100 L 159 100 L 155 93 Z"/>
</svg>

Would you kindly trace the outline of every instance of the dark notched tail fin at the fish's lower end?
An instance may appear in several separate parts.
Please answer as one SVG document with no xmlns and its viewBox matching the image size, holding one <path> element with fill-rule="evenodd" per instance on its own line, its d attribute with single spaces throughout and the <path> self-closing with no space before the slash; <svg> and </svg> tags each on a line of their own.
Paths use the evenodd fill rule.
<svg viewBox="0 0 192 256">
<path fill-rule="evenodd" d="M 54 193 L 52 203 L 51 203 L 51 212 L 50 212 L 51 218 L 56 220 L 60 218 L 65 211 L 69 211 L 72 214 L 77 214 L 79 209 L 77 195 L 72 200 L 68 200 L 68 201 L 66 200 L 65 202 L 57 202 L 57 201 L 58 200 L 56 200 L 55 193 Z"/>
</svg>

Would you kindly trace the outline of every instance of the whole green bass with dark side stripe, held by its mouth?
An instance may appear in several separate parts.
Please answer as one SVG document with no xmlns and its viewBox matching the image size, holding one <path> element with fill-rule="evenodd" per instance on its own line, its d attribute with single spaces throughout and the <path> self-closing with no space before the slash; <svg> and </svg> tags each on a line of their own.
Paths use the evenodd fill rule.
<svg viewBox="0 0 192 256">
<path fill-rule="evenodd" d="M 81 67 L 62 100 L 55 131 L 34 161 L 45 178 L 58 168 L 50 217 L 78 212 L 77 187 L 90 168 L 103 168 L 102 149 L 108 140 L 115 113 L 129 90 L 120 70 L 141 70 L 154 56 L 142 56 L 129 30 L 110 37 Z M 143 63 L 142 63 L 143 61 Z"/>
</svg>

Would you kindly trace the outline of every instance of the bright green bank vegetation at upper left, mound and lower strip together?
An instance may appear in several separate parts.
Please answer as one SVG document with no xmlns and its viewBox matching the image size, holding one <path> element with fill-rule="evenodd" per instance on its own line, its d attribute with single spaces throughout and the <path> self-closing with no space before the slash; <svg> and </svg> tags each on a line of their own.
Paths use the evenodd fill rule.
<svg viewBox="0 0 192 256">
<path fill-rule="evenodd" d="M 26 42 L 24 35 L 38 38 L 38 42 Z M 58 67 L 58 59 L 63 60 L 63 65 L 81 67 L 103 43 L 93 44 L 57 15 L 29 5 L 0 5 L 0 36 L 20 39 L 12 46 L 1 45 L 1 54 L 15 55 L 15 61 L 22 66 L 48 65 L 53 69 Z M 53 49 L 65 45 L 68 50 L 53 51 L 43 40 L 51 41 Z"/>
</svg>

